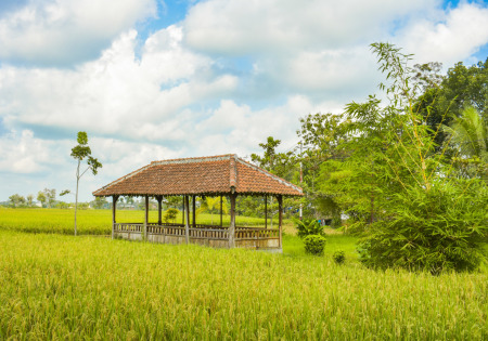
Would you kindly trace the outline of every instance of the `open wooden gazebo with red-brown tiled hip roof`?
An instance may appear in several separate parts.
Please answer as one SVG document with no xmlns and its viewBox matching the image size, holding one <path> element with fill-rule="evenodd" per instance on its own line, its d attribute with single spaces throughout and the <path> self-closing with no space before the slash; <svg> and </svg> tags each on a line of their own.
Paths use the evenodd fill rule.
<svg viewBox="0 0 488 341">
<path fill-rule="evenodd" d="M 113 198 L 112 237 L 154 242 L 195 242 L 218 248 L 245 247 L 254 249 L 282 248 L 283 196 L 303 196 L 300 187 L 256 167 L 234 154 L 153 161 L 93 192 L 97 197 Z M 278 228 L 235 225 L 235 198 L 273 196 L 279 204 Z M 143 223 L 117 223 L 116 204 L 119 196 L 145 198 Z M 162 222 L 162 201 L 165 196 L 182 196 L 182 223 Z M 195 222 L 195 198 L 220 196 L 220 224 L 202 225 Z M 230 200 L 230 224 L 222 224 L 222 197 Z M 149 222 L 149 198 L 158 202 L 158 221 Z M 190 198 L 192 218 L 190 221 Z M 267 202 L 267 200 L 265 200 Z M 265 210 L 265 215 L 267 209 Z"/>
</svg>

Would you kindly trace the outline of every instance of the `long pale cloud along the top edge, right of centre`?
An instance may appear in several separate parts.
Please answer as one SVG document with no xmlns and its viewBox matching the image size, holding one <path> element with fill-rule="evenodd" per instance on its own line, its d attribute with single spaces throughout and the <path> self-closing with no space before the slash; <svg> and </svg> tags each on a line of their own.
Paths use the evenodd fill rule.
<svg viewBox="0 0 488 341">
<path fill-rule="evenodd" d="M 185 40 L 201 51 L 229 55 L 335 49 L 385 36 L 396 18 L 436 2 L 209 0 L 190 10 Z"/>
</svg>

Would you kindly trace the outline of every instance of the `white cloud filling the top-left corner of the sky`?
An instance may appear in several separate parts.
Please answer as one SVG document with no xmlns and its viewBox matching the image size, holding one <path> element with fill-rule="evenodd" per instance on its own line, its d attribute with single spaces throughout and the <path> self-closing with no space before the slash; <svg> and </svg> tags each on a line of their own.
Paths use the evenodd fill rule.
<svg viewBox="0 0 488 341">
<path fill-rule="evenodd" d="M 29 1 L 0 18 L 0 58 L 70 65 L 97 57 L 120 31 L 156 15 L 154 0 Z"/>
</svg>

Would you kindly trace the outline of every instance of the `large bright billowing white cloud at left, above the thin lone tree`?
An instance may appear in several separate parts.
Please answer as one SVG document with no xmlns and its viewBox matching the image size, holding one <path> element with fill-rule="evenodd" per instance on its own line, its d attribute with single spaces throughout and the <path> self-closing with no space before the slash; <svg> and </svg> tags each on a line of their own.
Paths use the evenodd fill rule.
<svg viewBox="0 0 488 341">
<path fill-rule="evenodd" d="M 134 56 L 137 32 L 123 34 L 94 62 L 75 70 L 0 69 L 0 115 L 15 123 L 88 130 L 143 140 L 183 139 L 185 107 L 235 89 L 231 75 L 214 75 L 208 57 L 181 47 L 170 26 Z"/>
</svg>

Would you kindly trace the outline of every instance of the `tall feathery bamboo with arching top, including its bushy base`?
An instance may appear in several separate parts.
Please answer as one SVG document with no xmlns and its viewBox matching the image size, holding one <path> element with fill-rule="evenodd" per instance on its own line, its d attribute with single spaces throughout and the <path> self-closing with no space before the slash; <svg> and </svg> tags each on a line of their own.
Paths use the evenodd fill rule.
<svg viewBox="0 0 488 341">
<path fill-rule="evenodd" d="M 372 44 L 388 86 L 387 102 L 371 95 L 350 103 L 351 172 L 344 191 L 354 200 L 365 235 L 359 244 L 371 267 L 472 271 L 484 259 L 488 189 L 479 179 L 452 175 L 452 163 L 434 153 L 435 142 L 422 115 L 414 110 L 409 55 L 387 43 Z M 370 215 L 369 221 L 363 218 Z"/>
</svg>

